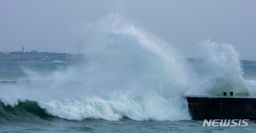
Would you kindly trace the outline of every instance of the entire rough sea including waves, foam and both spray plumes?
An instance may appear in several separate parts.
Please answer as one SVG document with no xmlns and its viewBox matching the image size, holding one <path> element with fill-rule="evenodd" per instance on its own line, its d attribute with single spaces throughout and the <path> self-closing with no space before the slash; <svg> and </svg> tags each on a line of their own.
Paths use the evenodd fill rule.
<svg viewBox="0 0 256 133">
<path fill-rule="evenodd" d="M 192 120 L 183 97 L 255 97 L 255 62 L 241 62 L 231 44 L 210 39 L 195 45 L 201 58 L 185 58 L 118 20 L 111 15 L 87 25 L 94 41 L 80 61 L 0 62 L 0 132 L 255 132 L 256 121 L 203 126 Z"/>
</svg>

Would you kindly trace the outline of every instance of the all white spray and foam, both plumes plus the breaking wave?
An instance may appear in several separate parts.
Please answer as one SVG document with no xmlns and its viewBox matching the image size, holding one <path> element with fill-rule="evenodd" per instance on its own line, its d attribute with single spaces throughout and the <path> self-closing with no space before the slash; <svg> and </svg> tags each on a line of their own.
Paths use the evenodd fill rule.
<svg viewBox="0 0 256 133">
<path fill-rule="evenodd" d="M 181 53 L 157 37 L 110 14 L 85 25 L 94 41 L 86 46 L 85 63 L 52 73 L 22 68 L 27 82 L 7 83 L 1 101 L 37 101 L 49 115 L 69 120 L 102 118 L 118 121 L 190 120 L 190 94 L 248 95 L 239 55 L 229 44 L 205 40 L 199 44 L 203 62 L 187 62 Z M 86 57 L 87 58 L 87 57 Z"/>
</svg>

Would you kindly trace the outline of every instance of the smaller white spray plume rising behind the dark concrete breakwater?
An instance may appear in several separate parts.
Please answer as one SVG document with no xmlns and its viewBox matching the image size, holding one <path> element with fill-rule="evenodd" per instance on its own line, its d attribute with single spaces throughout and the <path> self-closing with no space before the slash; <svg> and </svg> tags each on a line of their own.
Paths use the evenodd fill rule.
<svg viewBox="0 0 256 133">
<path fill-rule="evenodd" d="M 231 44 L 217 44 L 209 39 L 202 41 L 196 49 L 204 59 L 193 63 L 198 81 L 193 87 L 198 86 L 204 94 L 234 92 L 236 95 L 250 95 L 249 87 L 242 77 L 239 53 Z M 188 93 L 198 94 L 200 89 L 193 87 Z"/>
</svg>

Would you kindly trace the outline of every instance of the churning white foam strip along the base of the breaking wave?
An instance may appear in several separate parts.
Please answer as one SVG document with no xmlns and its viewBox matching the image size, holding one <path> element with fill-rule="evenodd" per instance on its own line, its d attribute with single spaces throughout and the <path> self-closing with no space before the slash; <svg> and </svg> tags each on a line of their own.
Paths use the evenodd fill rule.
<svg viewBox="0 0 256 133">
<path fill-rule="evenodd" d="M 135 101 L 133 99 L 109 101 L 94 98 L 86 99 L 85 102 L 77 100 L 39 102 L 39 106 L 46 109 L 50 115 L 60 118 L 68 120 L 102 118 L 109 121 L 118 121 L 122 117 L 139 121 L 187 120 L 190 117 L 186 110 L 186 105 L 181 98 L 164 99 L 162 97 L 142 101 Z"/>
</svg>

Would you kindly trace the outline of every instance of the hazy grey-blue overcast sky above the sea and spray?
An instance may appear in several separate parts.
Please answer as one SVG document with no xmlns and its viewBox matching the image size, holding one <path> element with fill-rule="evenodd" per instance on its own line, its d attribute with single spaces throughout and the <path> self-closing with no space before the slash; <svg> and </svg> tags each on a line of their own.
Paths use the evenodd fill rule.
<svg viewBox="0 0 256 133">
<path fill-rule="evenodd" d="M 186 57 L 211 39 L 256 60 L 255 0 L 0 0 L 0 51 L 76 54 L 78 39 L 92 41 L 77 27 L 117 12 Z"/>
</svg>

